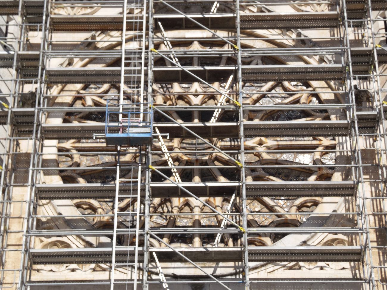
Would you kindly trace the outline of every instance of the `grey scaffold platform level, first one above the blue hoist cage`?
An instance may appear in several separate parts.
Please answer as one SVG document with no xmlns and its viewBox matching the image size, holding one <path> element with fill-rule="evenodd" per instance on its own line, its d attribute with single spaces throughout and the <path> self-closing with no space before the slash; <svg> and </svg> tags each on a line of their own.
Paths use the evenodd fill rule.
<svg viewBox="0 0 387 290">
<path fill-rule="evenodd" d="M 235 66 L 223 67 L 184 67 L 206 82 L 226 81 L 236 72 Z M 354 73 L 368 73 L 368 65 L 356 65 Z M 242 66 L 243 81 L 308 81 L 308 80 L 341 80 L 345 68 L 342 65 L 244 65 Z M 196 82 L 197 78 L 178 67 L 154 67 L 155 83 Z M 36 77 L 36 70 L 28 70 L 25 77 Z M 119 83 L 120 68 L 86 67 L 86 68 L 47 68 L 46 82 L 49 84 Z M 124 82 L 137 80 L 141 77 L 139 69 L 125 68 Z M 146 75 L 146 79 L 147 79 Z"/>
</svg>

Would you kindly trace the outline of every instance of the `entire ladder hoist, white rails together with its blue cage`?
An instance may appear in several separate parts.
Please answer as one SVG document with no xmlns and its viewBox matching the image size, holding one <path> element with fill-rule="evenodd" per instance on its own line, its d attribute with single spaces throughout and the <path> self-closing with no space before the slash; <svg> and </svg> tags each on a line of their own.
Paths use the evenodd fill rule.
<svg viewBox="0 0 387 290">
<path fill-rule="evenodd" d="M 133 25 L 133 31 L 127 31 L 127 9 L 142 9 L 142 14 L 138 14 Z M 144 103 L 144 63 L 145 63 L 145 41 L 146 41 L 146 11 L 147 1 L 141 0 L 124 0 L 123 1 L 123 26 L 122 26 L 122 44 L 121 44 L 121 77 L 120 77 L 120 95 L 118 101 L 118 110 L 110 109 L 116 107 L 114 102 L 106 103 L 106 124 L 105 124 L 105 140 L 106 145 L 114 145 L 117 148 L 117 167 L 116 167 L 116 190 L 114 200 L 114 222 L 113 222 L 113 239 L 112 239 L 112 259 L 111 259 L 111 275 L 110 275 L 110 289 L 113 290 L 118 280 L 122 278 L 116 278 L 116 268 L 127 269 L 127 283 L 130 281 L 133 283 L 133 290 L 137 289 L 138 279 L 138 247 L 139 247 L 139 225 L 140 225 L 140 198 L 141 198 L 141 164 L 140 157 L 138 165 L 131 167 L 132 177 L 120 176 L 120 152 L 123 150 L 122 146 L 126 147 L 138 147 L 142 145 L 150 145 L 152 142 L 152 114 L 148 109 L 151 106 Z M 139 27 L 142 28 L 140 29 Z M 132 28 L 131 28 L 132 29 Z M 125 43 L 127 38 L 133 37 L 137 41 L 142 41 L 142 49 L 127 49 Z M 141 53 L 141 60 L 139 61 L 139 53 Z M 130 60 L 127 60 L 129 58 Z M 125 72 L 125 64 L 131 66 L 132 71 L 136 73 Z M 141 70 L 139 73 L 138 70 Z M 135 87 L 134 90 L 125 88 L 125 84 L 128 83 Z M 138 87 L 139 86 L 139 87 Z M 133 102 L 136 97 L 140 97 L 139 101 Z M 128 98 L 128 99 L 127 99 Z M 118 117 L 118 118 L 117 118 Z M 115 121 L 118 119 L 118 121 Z M 125 152 L 125 151 L 124 151 Z M 125 167 L 127 168 L 127 167 Z M 133 177 L 133 172 L 137 169 L 137 178 Z M 137 184 L 136 184 L 137 183 Z M 120 193 L 120 184 L 130 185 L 130 193 Z M 137 193 L 134 193 L 134 188 L 137 186 Z M 132 190 L 134 189 L 134 190 Z M 119 212 L 118 204 L 123 199 L 129 199 L 130 206 L 127 211 Z M 133 201 L 136 200 L 136 204 Z M 127 235 L 127 240 L 130 241 L 134 238 L 134 249 L 128 247 L 127 260 L 117 261 L 117 235 L 118 235 L 118 223 L 120 220 L 129 223 L 128 231 L 120 231 L 120 235 Z M 131 230 L 131 226 L 135 223 L 135 234 Z M 120 246 L 121 247 L 121 246 Z M 120 250 L 121 252 L 122 250 Z M 133 257 L 134 256 L 134 257 Z M 133 271 L 133 272 L 131 272 Z M 128 278 L 129 273 L 132 273 L 133 278 Z M 122 283 L 122 281 L 120 281 Z"/>
</svg>

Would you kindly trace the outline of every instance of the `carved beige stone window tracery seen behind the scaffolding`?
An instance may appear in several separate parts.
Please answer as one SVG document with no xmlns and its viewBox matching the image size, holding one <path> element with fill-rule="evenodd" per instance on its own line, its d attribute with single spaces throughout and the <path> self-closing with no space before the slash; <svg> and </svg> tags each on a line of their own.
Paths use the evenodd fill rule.
<svg viewBox="0 0 387 290">
<path fill-rule="evenodd" d="M 295 2 L 295 10 L 297 11 L 326 11 L 327 5 L 299 5 Z M 207 12 L 208 7 L 202 7 L 200 5 L 192 8 L 193 10 L 188 11 L 191 13 L 202 13 Z M 93 14 L 99 10 L 99 7 L 94 9 L 78 9 L 72 10 L 68 7 L 63 9 L 55 10 L 55 14 L 63 15 L 74 15 L 74 14 Z M 164 9 L 165 13 L 168 12 L 168 9 Z M 257 10 L 261 11 L 257 7 L 247 7 L 247 11 Z M 229 12 L 228 7 L 219 8 L 218 11 Z M 253 12 L 257 12 L 253 11 Z M 187 12 L 187 11 L 186 11 Z M 289 32 L 291 33 L 291 32 Z M 94 37 L 94 36 L 92 36 Z M 108 39 L 109 37 L 115 38 L 116 36 L 98 36 L 100 38 Z M 293 43 L 296 45 L 296 43 Z M 133 45 L 133 44 L 130 44 Z M 173 44 L 175 49 L 185 48 L 187 50 L 200 50 L 208 46 L 208 43 L 199 43 L 197 41 L 190 44 Z M 250 44 L 246 44 L 249 45 Z M 267 45 L 272 45 L 267 43 Z M 119 44 L 117 42 L 116 46 Z M 219 46 L 218 43 L 214 44 L 213 49 L 223 48 Z M 159 49 L 165 49 L 164 44 L 160 44 Z M 300 63 L 307 63 L 307 58 L 299 60 Z M 118 61 L 118 60 L 117 60 Z M 165 61 L 156 60 L 160 65 L 169 66 L 170 63 Z M 192 65 L 226 65 L 236 63 L 236 59 L 233 57 L 221 58 L 219 60 L 209 60 L 205 58 L 193 57 L 190 61 Z M 254 57 L 250 59 L 243 59 L 243 64 L 274 64 L 274 63 L 288 63 L 288 60 L 284 58 L 283 60 L 271 59 L 271 58 L 259 58 Z M 319 60 L 312 60 L 319 61 Z M 322 60 L 327 63 L 327 60 Z M 329 60 L 328 60 L 329 61 Z M 89 62 L 82 60 L 71 60 L 65 61 L 66 66 L 70 67 L 82 67 L 82 66 L 92 66 L 93 60 Z M 109 64 L 106 64 L 108 66 Z M 111 64 L 110 64 L 111 65 Z M 113 63 L 114 66 L 114 63 Z M 339 102 L 335 97 L 329 96 L 328 99 L 325 99 L 326 95 L 319 95 L 312 93 L 315 91 L 315 87 L 322 84 L 324 89 L 329 88 L 329 85 L 324 82 L 268 82 L 268 83 L 245 83 L 243 84 L 244 92 L 244 102 L 246 104 L 255 105 L 259 107 L 260 105 L 275 105 L 275 104 L 322 104 L 325 102 L 333 101 Z M 218 89 L 224 89 L 224 81 L 215 82 L 212 84 Z M 51 92 L 61 92 L 64 87 L 53 87 Z M 125 90 L 127 92 L 132 91 L 131 87 L 126 86 Z M 211 88 L 208 88 L 200 83 L 194 82 L 192 84 L 155 84 L 153 86 L 154 92 L 160 92 L 161 94 L 154 97 L 155 106 L 206 106 L 206 105 L 216 105 L 221 96 L 214 94 L 208 95 L 204 93 L 214 92 Z M 230 88 L 230 92 L 236 91 L 236 86 Z M 79 94 L 95 92 L 95 94 L 115 94 L 119 92 L 120 88 L 116 84 L 93 84 L 93 85 L 82 85 L 75 88 L 75 91 Z M 271 91 L 277 92 L 278 94 L 267 95 L 260 93 L 260 91 Z M 285 91 L 302 91 L 302 93 L 288 93 L 283 94 Z M 200 94 L 203 92 L 203 94 Z M 333 94 L 332 94 L 333 95 Z M 56 100 L 52 100 L 55 104 Z M 68 98 L 68 106 L 87 106 L 87 107 L 98 107 L 106 106 L 106 102 L 110 101 L 109 97 L 99 97 L 99 96 L 84 96 L 77 97 L 74 99 Z M 137 102 L 139 99 L 126 99 L 128 104 L 131 102 Z M 169 111 L 168 114 L 179 121 L 180 123 L 185 122 L 200 122 L 208 121 L 207 119 L 211 116 L 197 116 L 197 115 L 183 115 L 177 111 Z M 236 114 L 222 113 L 218 121 L 237 121 Z M 317 111 L 317 110 L 298 110 L 298 111 L 247 111 L 244 116 L 246 121 L 306 121 L 306 120 L 329 120 L 340 118 L 334 114 L 330 114 L 328 111 Z M 50 117 L 48 118 L 50 121 Z M 103 122 L 104 116 L 99 113 L 67 113 L 63 116 L 63 122 L 67 123 L 93 123 L 93 122 Z M 216 144 L 219 148 L 223 150 L 232 150 L 239 147 L 238 141 L 230 139 L 222 140 L 208 140 L 213 144 Z M 207 154 L 195 154 L 195 158 L 190 154 L 182 154 L 180 150 L 189 150 L 192 142 L 190 140 L 180 140 L 174 139 L 166 142 L 166 146 L 169 150 L 174 150 L 176 153 L 171 154 L 175 166 L 179 165 L 226 165 L 229 163 L 229 160 L 225 159 L 222 155 L 217 152 L 207 153 Z M 199 150 L 211 150 L 211 147 L 205 145 L 205 143 L 195 144 L 195 148 Z M 322 165 L 322 164 L 335 164 L 336 156 L 332 153 L 326 152 L 315 152 L 314 154 L 278 154 L 271 153 L 271 150 L 279 150 L 283 148 L 298 148 L 298 149 L 334 149 L 337 148 L 337 140 L 333 138 L 264 138 L 257 137 L 246 139 L 245 149 L 246 152 L 246 163 L 249 165 L 299 165 L 299 167 L 292 167 L 292 169 L 286 169 L 281 167 L 280 169 L 267 169 L 257 167 L 253 170 L 247 169 L 247 181 L 317 181 L 317 180 L 331 180 L 336 178 L 334 176 L 335 171 L 324 167 L 324 170 L 316 169 L 304 169 L 302 165 Z M 104 150 L 106 147 L 101 140 L 92 140 L 92 141 L 83 141 L 83 140 L 63 140 L 59 141 L 57 144 L 58 152 L 71 152 L 70 155 L 60 155 L 58 157 L 59 167 L 90 167 L 90 166 L 99 166 L 99 165 L 116 165 L 117 160 L 115 157 L 106 156 L 106 155 L 82 155 L 82 151 L 90 151 L 93 149 Z M 188 148 L 188 149 L 187 149 Z M 156 147 L 157 149 L 157 147 Z M 156 150 L 155 149 L 155 150 Z M 249 153 L 248 151 L 258 151 L 254 153 Z M 134 154 L 130 150 L 124 155 L 122 162 L 125 164 L 135 164 L 138 161 L 138 155 Z M 77 153 L 77 154 L 74 154 Z M 166 160 L 163 159 L 162 155 L 157 155 L 154 157 L 154 162 L 157 165 L 166 165 Z M 170 173 L 169 173 L 170 174 Z M 182 176 L 183 181 L 238 181 L 238 174 L 232 170 L 219 170 L 219 169 L 207 169 L 203 170 L 199 174 L 190 171 L 190 169 L 180 169 L 179 174 Z M 195 175 L 196 174 L 196 175 Z M 137 178 L 138 172 L 135 171 L 123 171 L 123 178 Z M 65 171 L 58 172 L 58 177 L 55 182 L 63 183 L 89 183 L 89 182 L 110 182 L 113 183 L 115 180 L 114 172 L 110 171 Z M 173 175 L 170 174 L 170 177 L 173 179 Z M 154 177 L 156 178 L 156 177 Z M 48 178 L 50 179 L 50 178 Z M 307 215 L 300 215 L 297 213 L 313 212 L 322 202 L 322 198 L 249 198 L 247 202 L 247 209 L 249 213 L 252 212 L 276 212 L 276 215 L 248 215 L 249 227 L 299 227 L 304 222 L 307 221 Z M 222 209 L 223 212 L 226 210 L 229 200 L 227 198 L 209 198 L 206 200 L 209 203 L 212 203 L 218 209 Z M 55 201 L 51 201 L 55 205 Z M 135 208 L 137 201 L 133 199 L 126 199 L 120 203 L 120 210 L 130 211 Z M 112 213 L 112 202 L 108 200 L 73 200 L 72 204 L 79 212 L 79 215 L 84 217 L 87 222 L 90 223 L 91 227 L 97 229 L 109 229 L 112 226 L 111 218 L 98 217 L 98 218 L 88 218 L 87 215 L 90 213 L 95 214 L 108 214 Z M 233 207 L 231 212 L 240 212 L 238 207 L 238 202 Z M 51 205 L 46 205 L 46 208 L 49 208 Z M 47 209 L 45 209 L 47 210 Z M 44 211 L 44 210 L 43 210 Z M 151 227 L 219 227 L 221 220 L 217 219 L 212 215 L 200 215 L 200 213 L 209 213 L 208 208 L 203 207 L 200 203 L 192 199 L 186 198 L 170 198 L 170 199 L 154 199 L 152 201 L 151 213 L 163 213 L 164 215 L 153 216 L 151 218 Z M 294 215 L 281 215 L 281 213 L 290 212 Z M 187 216 L 178 216 L 168 215 L 169 213 L 197 213 L 197 216 L 187 215 Z M 237 221 L 237 220 L 236 220 Z M 133 227 L 136 222 L 142 223 L 142 221 L 125 220 L 123 219 L 120 223 L 120 227 Z M 165 235 L 163 240 L 170 243 L 173 246 L 178 247 L 200 247 L 200 246 L 212 246 L 213 241 L 216 235 L 207 235 L 202 237 L 195 235 Z M 251 246 L 271 246 L 274 243 L 281 241 L 285 235 L 256 235 L 249 237 L 248 243 Z M 107 237 L 109 240 L 110 237 Z M 122 245 L 131 244 L 132 241 L 126 241 L 123 239 L 118 239 L 118 242 Z M 163 247 L 162 244 L 152 241 L 155 246 Z M 336 246 L 339 244 L 348 245 L 350 242 L 346 237 L 330 237 L 326 238 L 320 242 L 322 245 L 327 246 Z M 241 241 L 238 237 L 226 236 L 224 235 L 221 244 L 219 246 L 240 246 Z M 83 242 L 82 244 L 77 245 L 79 247 L 86 247 L 87 243 Z M 40 244 L 37 247 L 41 248 L 64 248 L 64 247 L 75 247 L 73 244 L 68 242 L 62 237 L 53 237 L 51 239 L 42 239 Z M 88 267 L 78 265 L 61 265 L 59 268 L 56 266 L 41 266 L 38 270 L 41 271 L 53 271 L 53 272 L 62 272 L 62 271 L 73 271 L 82 270 L 89 271 L 93 269 L 95 265 L 90 265 Z M 329 267 L 334 270 L 341 270 L 344 268 L 349 268 L 347 264 L 337 265 L 335 263 L 298 263 L 297 265 L 292 264 L 288 265 L 288 269 L 295 269 L 295 267 L 300 267 L 303 269 L 315 269 L 316 267 Z"/>
</svg>

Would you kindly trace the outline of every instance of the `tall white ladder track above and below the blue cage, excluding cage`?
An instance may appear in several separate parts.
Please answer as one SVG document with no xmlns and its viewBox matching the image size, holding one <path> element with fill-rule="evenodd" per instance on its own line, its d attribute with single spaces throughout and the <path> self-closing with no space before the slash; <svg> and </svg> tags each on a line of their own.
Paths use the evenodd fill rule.
<svg viewBox="0 0 387 290">
<path fill-rule="evenodd" d="M 131 97 L 130 100 L 133 100 L 135 95 L 140 97 L 140 112 L 144 111 L 144 58 L 145 58 L 145 37 L 146 37 L 146 6 L 147 1 L 144 0 L 123 0 L 123 26 L 122 26 L 122 46 L 121 46 L 121 80 L 120 80 L 120 100 L 118 102 L 119 107 L 119 121 L 123 121 L 123 106 L 124 104 L 124 94 L 125 96 Z M 127 10 L 128 9 L 134 9 L 134 10 L 140 10 L 143 9 L 142 14 L 134 14 L 134 17 L 131 17 L 130 20 L 127 20 Z M 138 17 L 137 17 L 138 15 Z M 127 23 L 130 22 L 133 24 L 133 31 L 127 32 Z M 142 29 L 140 30 L 140 27 Z M 125 48 L 126 39 L 134 39 L 134 41 L 140 41 L 139 38 L 142 38 L 142 51 L 141 51 L 141 60 L 138 60 L 139 57 L 139 50 L 135 49 L 127 49 Z M 126 60 L 126 58 L 129 58 L 129 60 Z M 132 70 L 132 73 L 126 73 L 125 72 L 125 66 L 127 66 L 127 69 L 129 67 L 129 70 Z M 140 80 L 140 83 L 139 83 Z M 124 82 L 129 83 L 131 85 L 135 85 L 136 89 L 134 90 L 133 96 L 130 96 L 127 92 L 124 92 Z M 137 86 L 139 84 L 139 86 Z M 140 114 L 140 122 L 142 121 L 142 114 Z M 127 278 L 126 283 L 133 283 L 133 289 L 137 289 L 137 268 L 138 268 L 138 246 L 139 246 L 139 220 L 140 220 L 140 187 L 141 187 L 141 164 L 138 164 L 138 177 L 137 177 L 137 194 L 133 194 L 132 191 L 130 194 L 126 195 L 120 195 L 120 182 L 126 181 L 127 183 L 133 184 L 134 179 L 128 179 L 123 180 L 120 178 L 120 148 L 121 146 L 117 146 L 117 166 L 116 166 L 116 187 L 115 187 L 115 200 L 114 200 L 114 222 L 113 222 L 113 239 L 112 239 L 112 257 L 111 257 L 111 275 L 110 275 L 110 289 L 113 290 L 115 285 L 118 284 L 118 279 L 115 278 L 115 270 L 116 268 L 126 268 L 127 273 L 130 273 L 130 268 L 133 267 L 133 278 L 130 280 Z M 134 167 L 132 167 L 132 172 L 134 171 Z M 135 186 L 135 185 L 134 185 Z M 122 214 L 118 214 L 118 204 L 120 200 L 125 198 L 136 198 L 137 203 L 135 206 L 135 209 L 132 212 L 125 212 Z M 132 210 L 132 209 L 129 209 Z M 125 246 L 117 246 L 117 228 L 118 228 L 118 222 L 120 216 L 129 216 L 129 223 L 131 225 L 132 218 L 135 215 L 135 246 L 134 246 L 134 254 L 129 253 L 130 249 L 132 247 L 125 247 Z M 122 232 L 120 232 L 120 235 L 122 235 Z M 124 235 L 128 236 L 128 243 L 130 242 L 130 237 L 133 235 L 133 231 L 129 228 Z M 116 262 L 116 252 L 117 249 L 127 249 L 127 260 L 124 261 L 124 259 L 120 259 L 119 263 Z M 120 251 L 122 252 L 122 251 Z M 133 255 L 134 255 L 134 261 L 133 261 Z M 131 259 L 129 261 L 129 256 L 131 256 Z M 126 277 L 128 277 L 128 274 Z M 125 280 L 125 279 L 120 279 Z M 121 282 L 125 283 L 125 281 Z"/>
</svg>

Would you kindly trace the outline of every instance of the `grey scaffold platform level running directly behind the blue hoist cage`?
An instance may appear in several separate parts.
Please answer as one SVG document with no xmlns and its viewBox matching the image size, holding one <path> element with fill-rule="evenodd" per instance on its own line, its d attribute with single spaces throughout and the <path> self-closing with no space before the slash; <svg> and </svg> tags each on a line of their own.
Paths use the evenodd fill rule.
<svg viewBox="0 0 387 290">
<path fill-rule="evenodd" d="M 347 136 L 348 121 L 245 121 L 245 136 Z M 161 134 L 170 138 L 194 138 L 185 128 L 176 123 L 154 123 Z M 202 138 L 238 138 L 238 122 L 183 123 Z M 62 123 L 42 124 L 42 134 L 46 139 L 92 138 L 103 134 L 104 123 Z M 28 132 L 26 132 L 28 133 Z"/>
</svg>

